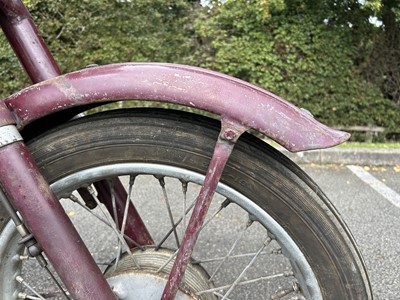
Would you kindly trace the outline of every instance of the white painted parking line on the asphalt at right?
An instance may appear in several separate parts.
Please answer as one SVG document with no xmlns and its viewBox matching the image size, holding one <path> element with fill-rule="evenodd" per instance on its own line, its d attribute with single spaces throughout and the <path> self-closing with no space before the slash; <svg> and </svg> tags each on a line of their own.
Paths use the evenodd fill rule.
<svg viewBox="0 0 400 300">
<path fill-rule="evenodd" d="M 385 197 L 386 200 L 388 200 L 394 206 L 400 208 L 400 195 L 398 193 L 376 179 L 360 166 L 347 166 L 347 168 L 352 171 L 358 178 L 360 178 L 362 181 L 372 187 L 375 191 Z"/>
</svg>

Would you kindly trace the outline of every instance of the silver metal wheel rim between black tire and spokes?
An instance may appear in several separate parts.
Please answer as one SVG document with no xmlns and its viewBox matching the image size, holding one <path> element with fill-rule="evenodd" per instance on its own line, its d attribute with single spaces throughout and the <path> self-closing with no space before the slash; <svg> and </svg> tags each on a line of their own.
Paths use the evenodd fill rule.
<svg viewBox="0 0 400 300">
<path fill-rule="evenodd" d="M 163 176 L 167 178 L 176 178 L 179 179 L 181 182 L 188 182 L 190 184 L 197 184 L 197 185 L 201 185 L 204 180 L 204 176 L 201 174 L 177 167 L 158 165 L 158 164 L 123 163 L 123 164 L 112 164 L 112 165 L 106 165 L 106 166 L 90 168 L 87 170 L 82 170 L 58 180 L 57 182 L 53 183 L 51 187 L 53 191 L 60 198 L 68 198 L 70 197 L 70 194 L 73 190 L 81 187 L 82 185 L 91 184 L 92 182 L 104 178 L 112 178 L 116 176 L 123 176 L 126 174 L 135 174 L 135 175 L 140 174 L 141 176 L 153 175 L 153 176 Z M 275 241 L 279 242 L 279 246 L 281 252 L 284 254 L 285 260 L 288 260 L 290 262 L 291 272 L 295 274 L 295 281 L 296 281 L 293 291 L 288 292 L 288 290 L 290 289 L 290 281 L 293 280 L 294 277 L 288 273 L 290 271 L 286 270 L 287 272 L 286 275 L 282 273 L 283 275 L 277 277 L 286 276 L 288 278 L 286 280 L 287 283 L 281 289 L 278 289 L 280 288 L 280 286 L 276 286 L 275 291 L 271 291 L 270 295 L 274 295 L 273 297 L 275 297 L 272 299 L 305 299 L 305 298 L 322 299 L 317 279 L 315 278 L 315 275 L 312 272 L 310 265 L 308 264 L 307 260 L 305 259 L 304 255 L 301 253 L 297 245 L 287 234 L 287 232 L 279 224 L 277 224 L 275 220 L 272 219 L 265 211 L 263 211 L 255 203 L 250 201 L 250 199 L 238 193 L 229 186 L 220 183 L 217 188 L 217 193 L 223 196 L 223 198 L 229 199 L 237 207 L 244 208 L 249 214 L 249 216 L 252 216 L 252 218 L 254 218 L 254 220 L 256 220 L 258 224 L 261 224 L 265 228 L 268 228 L 268 237 L 269 238 L 273 237 Z M 15 258 L 17 258 L 18 253 L 21 253 L 22 251 L 21 247 L 15 244 L 15 241 L 17 240 L 16 236 L 17 234 L 13 229 L 12 224 L 8 224 L 3 234 L 0 236 L 0 259 L 2 259 L 2 261 L 4 260 L 3 258 L 6 255 L 12 254 Z M 173 234 L 171 234 L 171 236 L 173 236 Z M 231 247 L 231 245 L 229 245 L 229 247 Z M 196 252 L 195 255 L 197 255 Z M 229 257 L 229 259 L 230 258 L 231 257 Z M 256 257 L 256 259 L 259 259 L 259 257 Z M 226 261 L 227 260 L 225 260 L 224 262 Z M 9 279 L 15 277 L 15 274 L 19 272 L 20 263 L 21 261 L 19 259 L 14 259 L 1 265 L 0 275 L 2 275 L 1 278 L 3 279 L 1 280 L 2 282 L 0 282 L 1 284 L 0 288 L 5 299 L 17 299 L 18 295 L 16 295 L 15 293 L 15 291 L 18 290 L 17 284 L 15 283 L 15 281 L 11 280 L 12 285 L 10 285 L 10 280 L 7 280 L 6 278 Z M 210 275 L 213 276 L 213 274 Z M 274 274 L 267 274 L 267 276 L 265 276 L 264 274 L 263 277 L 265 278 L 270 277 L 271 281 L 274 281 L 275 278 L 273 275 Z M 235 277 L 236 279 L 238 278 L 238 276 L 236 275 Z M 239 284 L 233 288 L 233 291 L 235 291 L 235 289 L 236 290 L 241 289 L 242 288 L 241 286 L 245 286 L 245 284 L 241 283 L 247 281 L 250 282 L 252 279 L 253 278 L 243 279 L 242 277 L 242 279 L 239 280 Z M 7 283 L 5 281 L 7 281 Z M 274 282 L 272 284 L 274 284 Z M 226 286 L 224 284 L 222 285 L 216 284 L 216 285 L 217 287 Z M 301 293 L 295 291 L 297 288 L 300 289 Z M 276 291 L 277 289 L 279 291 Z M 213 292 L 213 294 L 216 295 L 216 297 L 220 297 L 218 299 L 223 299 L 222 295 L 224 295 L 224 293 L 226 294 L 227 290 L 230 290 L 230 288 L 228 287 L 223 289 L 221 288 L 219 290 L 217 289 L 215 292 Z M 287 292 L 286 296 L 284 295 L 285 292 Z M 245 291 L 245 293 L 247 292 Z M 201 296 L 201 294 L 199 296 Z M 236 298 L 234 292 L 232 292 L 231 294 L 229 294 L 228 297 L 226 297 L 226 299 L 239 299 L 239 298 Z M 258 298 L 255 297 L 254 299 Z"/>
</svg>

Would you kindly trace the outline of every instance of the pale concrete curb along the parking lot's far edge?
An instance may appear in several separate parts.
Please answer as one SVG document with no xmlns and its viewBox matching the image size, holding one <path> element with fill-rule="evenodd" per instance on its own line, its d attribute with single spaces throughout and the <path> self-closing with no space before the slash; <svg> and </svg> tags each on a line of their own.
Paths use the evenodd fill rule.
<svg viewBox="0 0 400 300">
<path fill-rule="evenodd" d="M 400 149 L 332 148 L 297 153 L 278 150 L 297 164 L 400 165 Z"/>
</svg>

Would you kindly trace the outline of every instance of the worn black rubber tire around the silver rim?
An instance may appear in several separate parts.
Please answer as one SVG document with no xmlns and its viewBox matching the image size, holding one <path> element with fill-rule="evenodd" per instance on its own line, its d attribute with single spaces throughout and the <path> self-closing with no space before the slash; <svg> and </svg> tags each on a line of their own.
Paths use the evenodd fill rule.
<svg viewBox="0 0 400 300">
<path fill-rule="evenodd" d="M 86 168 L 123 162 L 204 174 L 219 127 L 215 120 L 183 112 L 112 111 L 70 122 L 34 139 L 29 147 L 50 183 Z M 284 228 L 310 265 L 323 299 L 372 299 L 362 258 L 346 225 L 293 162 L 244 134 L 221 181 Z"/>
</svg>

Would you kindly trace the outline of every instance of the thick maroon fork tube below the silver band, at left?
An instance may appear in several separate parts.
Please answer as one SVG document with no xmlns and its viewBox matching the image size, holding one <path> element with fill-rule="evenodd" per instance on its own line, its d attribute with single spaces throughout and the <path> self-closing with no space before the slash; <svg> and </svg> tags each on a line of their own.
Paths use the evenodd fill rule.
<svg viewBox="0 0 400 300">
<path fill-rule="evenodd" d="M 0 182 L 76 300 L 116 299 L 22 142 L 0 148 Z"/>
</svg>

